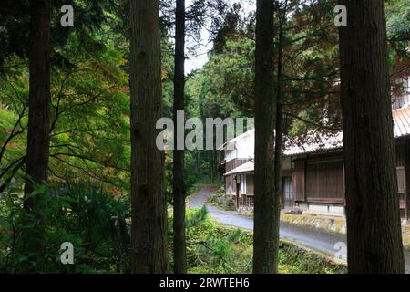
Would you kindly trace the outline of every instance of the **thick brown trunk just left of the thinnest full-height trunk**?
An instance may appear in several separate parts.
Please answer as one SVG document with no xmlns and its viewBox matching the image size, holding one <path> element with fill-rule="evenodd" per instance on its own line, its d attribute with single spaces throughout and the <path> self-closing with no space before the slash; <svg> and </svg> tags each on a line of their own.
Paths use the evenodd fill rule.
<svg viewBox="0 0 410 292">
<path fill-rule="evenodd" d="M 164 152 L 156 146 L 162 115 L 159 0 L 130 1 L 131 272 L 167 271 Z"/>
</svg>

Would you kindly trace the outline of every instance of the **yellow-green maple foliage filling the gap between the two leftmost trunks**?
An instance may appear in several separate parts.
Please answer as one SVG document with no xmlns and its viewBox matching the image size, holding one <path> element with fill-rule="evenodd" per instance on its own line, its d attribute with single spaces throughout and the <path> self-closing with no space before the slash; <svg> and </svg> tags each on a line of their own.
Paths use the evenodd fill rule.
<svg viewBox="0 0 410 292">
<path fill-rule="evenodd" d="M 113 44 L 99 54 L 66 55 L 74 65 L 55 70 L 50 165 L 54 180 L 83 174 L 127 189 L 129 178 L 128 76 Z M 81 174 L 83 173 L 83 174 Z"/>
</svg>

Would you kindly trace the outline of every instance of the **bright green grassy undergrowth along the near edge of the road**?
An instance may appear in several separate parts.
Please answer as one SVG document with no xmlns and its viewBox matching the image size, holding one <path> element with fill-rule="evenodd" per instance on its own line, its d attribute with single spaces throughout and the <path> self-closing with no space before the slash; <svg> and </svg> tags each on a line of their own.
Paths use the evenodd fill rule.
<svg viewBox="0 0 410 292">
<path fill-rule="evenodd" d="M 172 217 L 169 217 L 169 227 Z M 172 243 L 170 228 L 169 243 Z M 253 236 L 250 231 L 217 224 L 206 207 L 187 212 L 187 260 L 189 273 L 242 274 L 252 270 Z M 172 245 L 169 246 L 169 265 Z M 301 247 L 282 243 L 280 272 L 292 274 L 345 273 L 343 265 L 336 265 L 323 255 Z"/>
</svg>

